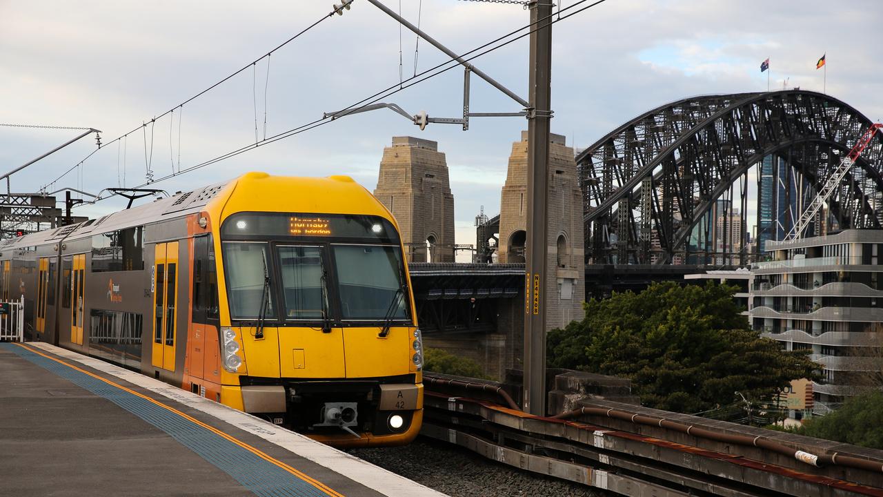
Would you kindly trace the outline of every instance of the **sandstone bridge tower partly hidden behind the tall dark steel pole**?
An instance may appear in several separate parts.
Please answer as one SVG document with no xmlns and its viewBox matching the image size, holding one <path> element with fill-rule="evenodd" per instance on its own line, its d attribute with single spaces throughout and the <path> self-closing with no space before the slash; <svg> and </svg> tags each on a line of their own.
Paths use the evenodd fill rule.
<svg viewBox="0 0 883 497">
<path fill-rule="evenodd" d="M 582 319 L 585 302 L 583 196 L 577 162 L 564 137 L 552 134 L 548 170 L 547 327 L 559 328 Z M 512 144 L 509 173 L 502 187 L 499 262 L 525 262 L 527 226 L 527 132 Z"/>
</svg>

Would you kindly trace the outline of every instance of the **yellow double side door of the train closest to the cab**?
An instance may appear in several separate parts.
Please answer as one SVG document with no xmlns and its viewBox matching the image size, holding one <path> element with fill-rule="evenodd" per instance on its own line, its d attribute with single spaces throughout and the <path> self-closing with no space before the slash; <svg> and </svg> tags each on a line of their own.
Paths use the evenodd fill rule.
<svg viewBox="0 0 883 497">
<path fill-rule="evenodd" d="M 154 346 L 151 363 L 175 371 L 177 241 L 157 243 L 154 264 Z"/>
</svg>

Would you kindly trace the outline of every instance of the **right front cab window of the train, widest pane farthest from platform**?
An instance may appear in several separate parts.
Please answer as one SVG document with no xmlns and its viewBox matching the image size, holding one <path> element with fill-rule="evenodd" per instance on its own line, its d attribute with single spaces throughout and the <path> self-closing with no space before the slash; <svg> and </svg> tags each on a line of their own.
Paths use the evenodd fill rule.
<svg viewBox="0 0 883 497">
<path fill-rule="evenodd" d="M 343 319 L 407 319 L 402 252 L 383 245 L 332 245 Z"/>
</svg>

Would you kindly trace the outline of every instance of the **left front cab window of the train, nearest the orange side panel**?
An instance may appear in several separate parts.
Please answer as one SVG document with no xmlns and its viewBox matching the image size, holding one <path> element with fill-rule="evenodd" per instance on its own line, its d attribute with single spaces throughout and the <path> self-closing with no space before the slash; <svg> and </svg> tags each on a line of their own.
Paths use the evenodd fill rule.
<svg viewBox="0 0 883 497">
<path fill-rule="evenodd" d="M 223 267 L 227 276 L 230 317 L 275 318 L 273 293 L 264 275 L 273 274 L 266 243 L 226 241 L 223 244 Z"/>
</svg>

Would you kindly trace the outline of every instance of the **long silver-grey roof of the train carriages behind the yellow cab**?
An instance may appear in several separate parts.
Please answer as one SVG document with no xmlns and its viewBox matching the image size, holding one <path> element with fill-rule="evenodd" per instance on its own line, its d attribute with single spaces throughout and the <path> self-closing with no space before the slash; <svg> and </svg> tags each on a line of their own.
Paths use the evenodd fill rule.
<svg viewBox="0 0 883 497">
<path fill-rule="evenodd" d="M 112 212 L 102 218 L 89 219 L 75 225 L 60 226 L 0 241 L 0 252 L 6 249 L 22 249 L 63 240 L 75 240 L 93 234 L 108 233 L 132 226 L 143 226 L 166 218 L 186 216 L 199 212 L 229 183 L 230 181 L 223 181 L 189 192 L 178 192 L 169 198 L 157 199 L 131 209 L 117 210 L 117 212 Z"/>
</svg>

